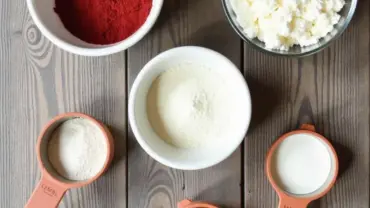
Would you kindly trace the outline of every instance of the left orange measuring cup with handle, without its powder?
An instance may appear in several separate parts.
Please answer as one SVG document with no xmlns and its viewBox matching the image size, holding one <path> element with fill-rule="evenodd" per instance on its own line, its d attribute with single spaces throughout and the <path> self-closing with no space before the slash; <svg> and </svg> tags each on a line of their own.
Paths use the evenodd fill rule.
<svg viewBox="0 0 370 208">
<path fill-rule="evenodd" d="M 72 181 L 60 176 L 50 164 L 47 155 L 47 145 L 53 131 L 64 121 L 73 118 L 83 118 L 94 123 L 103 133 L 107 143 L 107 157 L 104 166 L 94 177 L 84 181 Z M 65 192 L 70 188 L 78 188 L 92 183 L 107 169 L 113 158 L 113 138 L 108 128 L 96 119 L 82 113 L 61 114 L 49 121 L 41 131 L 37 141 L 37 160 L 41 169 L 41 179 L 25 205 L 26 208 L 54 208 L 62 200 Z"/>
</svg>

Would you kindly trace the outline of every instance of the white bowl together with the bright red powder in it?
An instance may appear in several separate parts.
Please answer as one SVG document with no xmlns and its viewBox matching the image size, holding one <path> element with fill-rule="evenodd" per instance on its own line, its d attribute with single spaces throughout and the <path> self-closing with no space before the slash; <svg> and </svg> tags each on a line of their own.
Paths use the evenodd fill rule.
<svg viewBox="0 0 370 208">
<path fill-rule="evenodd" d="M 123 51 L 152 28 L 163 0 L 27 0 L 51 42 L 71 53 L 104 56 Z"/>
</svg>

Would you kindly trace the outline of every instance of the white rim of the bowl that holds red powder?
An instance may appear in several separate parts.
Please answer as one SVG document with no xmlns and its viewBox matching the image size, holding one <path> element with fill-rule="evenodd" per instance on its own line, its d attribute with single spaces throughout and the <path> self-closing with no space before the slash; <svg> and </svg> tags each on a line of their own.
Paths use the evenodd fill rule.
<svg viewBox="0 0 370 208">
<path fill-rule="evenodd" d="M 41 33 L 49 39 L 52 43 L 54 43 L 59 48 L 68 51 L 70 53 L 74 53 L 77 55 L 82 56 L 106 56 L 114 53 L 118 53 L 120 51 L 126 50 L 127 48 L 133 46 L 137 42 L 139 42 L 154 26 L 155 22 L 158 19 L 158 16 L 161 12 L 163 1 L 164 0 L 156 0 L 156 4 L 152 5 L 152 9 L 145 20 L 144 24 L 132 35 L 127 37 L 126 39 L 108 45 L 101 45 L 101 48 L 88 48 L 88 47 L 80 47 L 74 44 L 68 43 L 56 35 L 54 35 L 42 22 L 38 13 L 36 12 L 34 6 L 35 0 L 27 0 L 27 7 L 30 15 L 35 23 L 35 25 L 39 28 Z M 153 1 L 154 2 L 154 1 Z M 79 39 L 79 38 L 78 38 Z M 81 39 L 80 39 L 81 40 Z M 83 40 L 82 40 L 83 41 Z"/>
</svg>

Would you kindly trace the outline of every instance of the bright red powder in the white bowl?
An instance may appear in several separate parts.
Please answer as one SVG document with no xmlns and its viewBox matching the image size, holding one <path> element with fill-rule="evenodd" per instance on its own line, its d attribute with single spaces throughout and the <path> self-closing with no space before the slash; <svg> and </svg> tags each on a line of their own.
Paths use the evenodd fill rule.
<svg viewBox="0 0 370 208">
<path fill-rule="evenodd" d="M 55 0 L 54 10 L 73 35 L 104 45 L 136 32 L 151 8 L 152 0 Z"/>
</svg>

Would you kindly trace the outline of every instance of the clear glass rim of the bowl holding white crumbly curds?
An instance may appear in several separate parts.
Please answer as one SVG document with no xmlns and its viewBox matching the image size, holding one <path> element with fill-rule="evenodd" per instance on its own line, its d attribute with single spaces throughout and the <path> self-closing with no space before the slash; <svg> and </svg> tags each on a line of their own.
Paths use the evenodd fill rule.
<svg viewBox="0 0 370 208">
<path fill-rule="evenodd" d="M 339 28 L 336 28 L 338 30 L 338 32 L 333 37 L 331 37 L 326 43 L 320 45 L 317 48 L 313 48 L 312 50 L 306 51 L 306 52 L 283 54 L 283 53 L 280 53 L 278 50 L 276 50 L 276 51 L 274 51 L 274 50 L 268 50 L 268 49 L 266 49 L 264 47 L 261 47 L 261 46 L 255 44 L 250 38 L 246 37 L 243 34 L 243 32 L 240 31 L 239 27 L 236 25 L 236 23 L 232 19 L 231 14 L 230 14 L 230 12 L 228 10 L 228 6 L 226 5 L 227 4 L 226 1 L 230 1 L 230 0 L 221 0 L 222 7 L 224 9 L 224 12 L 225 12 L 225 15 L 226 15 L 226 18 L 227 18 L 228 22 L 230 23 L 230 25 L 234 29 L 234 31 L 239 35 L 239 37 L 241 39 L 243 39 L 244 42 L 246 42 L 248 45 L 252 46 L 254 49 L 257 49 L 257 50 L 262 51 L 264 53 L 267 53 L 269 55 L 282 56 L 282 57 L 304 57 L 304 56 L 313 55 L 313 54 L 315 54 L 315 53 L 317 53 L 317 52 L 325 49 L 334 40 L 338 39 L 342 35 L 342 33 L 347 29 L 349 23 L 352 20 L 353 15 L 355 13 L 356 7 L 357 7 L 357 0 L 352 0 L 351 1 L 350 9 L 348 11 L 348 14 L 347 14 L 345 20 L 344 20 L 343 26 L 342 27 L 339 27 Z"/>
</svg>

